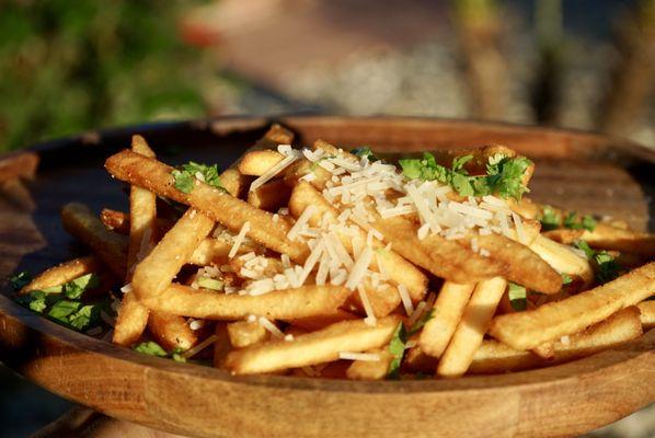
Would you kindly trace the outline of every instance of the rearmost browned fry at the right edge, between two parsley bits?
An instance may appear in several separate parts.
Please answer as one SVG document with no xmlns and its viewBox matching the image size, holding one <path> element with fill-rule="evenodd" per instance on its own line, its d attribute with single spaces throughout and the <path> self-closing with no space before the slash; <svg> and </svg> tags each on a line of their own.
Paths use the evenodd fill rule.
<svg viewBox="0 0 655 438">
<path fill-rule="evenodd" d="M 640 233 L 607 223 L 597 223 L 594 231 L 560 229 L 549 231 L 545 235 L 564 244 L 572 244 L 582 239 L 589 246 L 599 250 L 613 250 L 646 257 L 655 255 L 655 234 Z"/>
</svg>

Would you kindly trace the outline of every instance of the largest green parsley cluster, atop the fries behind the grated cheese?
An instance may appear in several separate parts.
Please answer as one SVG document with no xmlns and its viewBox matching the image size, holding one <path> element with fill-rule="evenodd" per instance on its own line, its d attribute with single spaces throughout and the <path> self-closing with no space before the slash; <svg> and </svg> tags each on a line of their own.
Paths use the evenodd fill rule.
<svg viewBox="0 0 655 438">
<path fill-rule="evenodd" d="M 450 185 L 461 196 L 496 194 L 503 198 L 520 199 L 528 191 L 522 184 L 526 170 L 532 164 L 525 157 L 509 158 L 502 153 L 490 157 L 486 175 L 469 175 L 464 164 L 473 155 L 456 157 L 451 169 L 437 164 L 435 157 L 424 152 L 422 159 L 399 160 L 403 174 L 411 180 L 438 181 Z"/>
</svg>

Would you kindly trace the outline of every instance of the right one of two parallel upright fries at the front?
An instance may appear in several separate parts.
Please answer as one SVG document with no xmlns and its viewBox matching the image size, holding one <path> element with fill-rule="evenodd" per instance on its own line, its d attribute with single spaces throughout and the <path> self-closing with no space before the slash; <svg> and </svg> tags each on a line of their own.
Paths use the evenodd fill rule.
<svg viewBox="0 0 655 438">
<path fill-rule="evenodd" d="M 467 372 L 473 361 L 475 350 L 482 344 L 489 324 L 496 312 L 496 307 L 505 292 L 505 287 L 507 287 L 507 281 L 502 277 L 480 281 L 475 285 L 464 314 L 441 356 L 437 367 L 438 376 L 450 378 Z"/>
</svg>

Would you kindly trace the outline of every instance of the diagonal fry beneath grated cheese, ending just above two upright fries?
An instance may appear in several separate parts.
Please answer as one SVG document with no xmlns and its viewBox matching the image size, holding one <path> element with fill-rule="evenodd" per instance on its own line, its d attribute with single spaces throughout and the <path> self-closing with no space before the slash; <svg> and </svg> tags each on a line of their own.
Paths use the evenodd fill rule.
<svg viewBox="0 0 655 438">
<path fill-rule="evenodd" d="M 307 182 L 300 182 L 294 187 L 294 192 L 291 193 L 289 212 L 298 218 L 309 206 L 313 206 L 314 208 L 314 214 L 309 218 L 309 223 L 312 227 L 319 227 L 323 218 L 328 218 L 331 223 L 337 223 L 338 210 L 328 203 L 312 185 Z M 355 230 L 358 231 L 358 239 L 361 242 L 366 242 L 366 232 L 358 227 Z M 338 232 L 337 237 L 346 251 L 353 255 L 354 239 Z M 405 286 L 412 300 L 422 300 L 427 290 L 427 277 L 395 252 L 384 250 L 384 245 L 380 241 L 372 240 L 371 244 L 376 250 L 376 256 L 371 264 L 372 268 L 378 272 L 384 272 L 397 286 Z"/>
</svg>

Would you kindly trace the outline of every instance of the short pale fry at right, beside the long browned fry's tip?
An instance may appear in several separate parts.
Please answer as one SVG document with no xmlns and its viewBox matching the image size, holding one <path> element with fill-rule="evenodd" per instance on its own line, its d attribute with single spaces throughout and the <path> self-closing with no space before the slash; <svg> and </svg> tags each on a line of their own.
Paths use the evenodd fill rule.
<svg viewBox="0 0 655 438">
<path fill-rule="evenodd" d="M 581 257 L 561 243 L 538 235 L 530 249 L 545 261 L 553 269 L 570 276 L 581 277 L 585 286 L 594 283 L 594 269 L 589 261 Z"/>
</svg>

